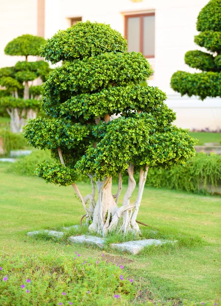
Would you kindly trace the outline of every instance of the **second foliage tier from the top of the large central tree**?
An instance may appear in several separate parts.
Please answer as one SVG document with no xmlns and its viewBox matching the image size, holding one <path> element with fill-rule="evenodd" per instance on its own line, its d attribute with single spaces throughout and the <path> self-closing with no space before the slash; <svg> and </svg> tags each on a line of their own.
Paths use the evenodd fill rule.
<svg viewBox="0 0 221 306">
<path fill-rule="evenodd" d="M 44 103 L 62 103 L 74 93 L 127 86 L 150 77 L 150 64 L 141 53 L 105 53 L 54 69 L 43 84 Z"/>
</svg>

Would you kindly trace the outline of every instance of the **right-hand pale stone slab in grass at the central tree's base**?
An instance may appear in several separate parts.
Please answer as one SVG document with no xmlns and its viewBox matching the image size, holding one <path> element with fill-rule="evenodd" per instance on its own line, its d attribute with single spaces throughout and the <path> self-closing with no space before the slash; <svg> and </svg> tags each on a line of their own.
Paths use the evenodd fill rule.
<svg viewBox="0 0 221 306">
<path fill-rule="evenodd" d="M 170 240 L 158 240 L 158 239 L 144 239 L 144 240 L 136 240 L 136 241 L 128 241 L 123 243 L 112 243 L 110 244 L 111 248 L 118 249 L 120 251 L 128 251 L 131 254 L 135 255 L 139 253 L 145 246 L 150 245 L 160 245 L 167 242 L 176 242 L 176 241 L 170 241 Z"/>
</svg>

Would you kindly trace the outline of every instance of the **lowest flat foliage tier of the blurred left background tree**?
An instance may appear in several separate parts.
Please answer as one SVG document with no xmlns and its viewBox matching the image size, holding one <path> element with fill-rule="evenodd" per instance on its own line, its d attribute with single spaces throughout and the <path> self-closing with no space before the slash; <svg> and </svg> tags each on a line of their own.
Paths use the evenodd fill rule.
<svg viewBox="0 0 221 306">
<path fill-rule="evenodd" d="M 4 108 L 19 108 L 19 109 L 27 108 L 33 110 L 40 109 L 40 104 L 38 100 L 14 98 L 12 96 L 1 98 L 0 106 L 3 106 Z"/>
</svg>

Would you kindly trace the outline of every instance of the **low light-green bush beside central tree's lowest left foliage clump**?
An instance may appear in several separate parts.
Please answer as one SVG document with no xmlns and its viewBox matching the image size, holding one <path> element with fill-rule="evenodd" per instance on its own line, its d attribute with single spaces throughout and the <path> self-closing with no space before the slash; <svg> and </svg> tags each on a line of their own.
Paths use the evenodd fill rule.
<svg viewBox="0 0 221 306">
<path fill-rule="evenodd" d="M 36 165 L 44 160 L 53 161 L 50 158 L 48 150 L 33 151 L 31 155 L 20 157 L 16 162 L 10 165 L 9 172 L 19 175 L 34 175 Z"/>
</svg>

